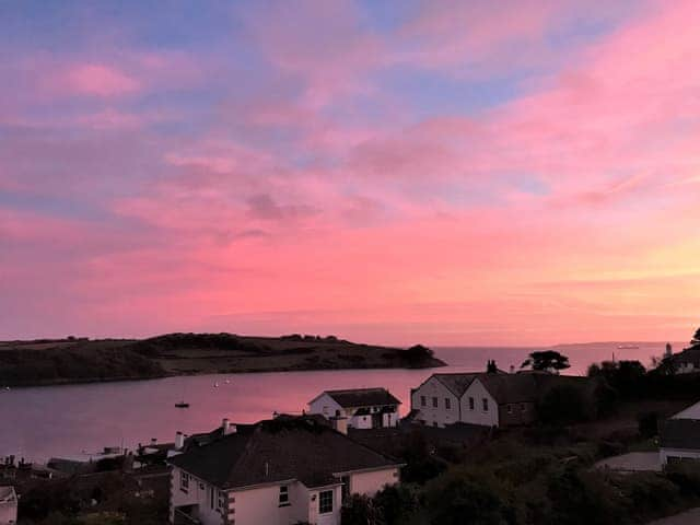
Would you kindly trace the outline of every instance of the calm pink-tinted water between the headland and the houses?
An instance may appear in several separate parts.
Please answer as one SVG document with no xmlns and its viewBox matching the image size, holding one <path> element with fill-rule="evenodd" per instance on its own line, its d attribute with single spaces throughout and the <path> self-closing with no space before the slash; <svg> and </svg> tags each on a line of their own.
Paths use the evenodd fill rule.
<svg viewBox="0 0 700 525">
<path fill-rule="evenodd" d="M 663 343 L 576 345 L 560 350 L 570 357 L 569 373 L 583 374 L 593 361 L 661 355 Z M 679 346 L 675 346 L 680 350 Z M 436 354 L 451 366 L 440 372 L 479 371 L 488 359 L 509 370 L 520 365 L 524 348 L 443 348 Z M 15 454 L 43 462 L 51 456 L 89 458 L 104 446 L 135 447 L 151 438 L 173 441 L 175 432 L 211 430 L 223 417 L 235 422 L 269 418 L 273 411 L 301 412 L 324 389 L 385 386 L 409 408 L 410 388 L 432 370 L 354 370 L 269 374 L 206 375 L 154 381 L 14 388 L 0 392 L 0 456 Z M 229 383 L 226 383 L 229 380 Z M 214 387 L 214 383 L 219 386 Z M 177 409 L 180 397 L 189 409 Z"/>
</svg>

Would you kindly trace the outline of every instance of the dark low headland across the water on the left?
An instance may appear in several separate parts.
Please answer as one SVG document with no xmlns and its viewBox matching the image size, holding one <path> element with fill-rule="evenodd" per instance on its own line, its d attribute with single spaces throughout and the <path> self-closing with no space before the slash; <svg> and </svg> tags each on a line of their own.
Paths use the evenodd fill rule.
<svg viewBox="0 0 700 525">
<path fill-rule="evenodd" d="M 444 366 L 422 345 L 361 345 L 335 336 L 167 334 L 148 339 L 0 341 L 0 385 L 35 386 L 176 375 Z"/>
</svg>

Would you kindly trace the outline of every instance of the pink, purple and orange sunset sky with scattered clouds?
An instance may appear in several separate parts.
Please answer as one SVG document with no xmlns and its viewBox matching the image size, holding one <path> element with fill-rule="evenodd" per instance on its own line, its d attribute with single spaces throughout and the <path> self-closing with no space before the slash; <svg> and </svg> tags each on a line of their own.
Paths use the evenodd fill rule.
<svg viewBox="0 0 700 525">
<path fill-rule="evenodd" d="M 687 340 L 699 19 L 0 2 L 0 339 Z"/>
</svg>

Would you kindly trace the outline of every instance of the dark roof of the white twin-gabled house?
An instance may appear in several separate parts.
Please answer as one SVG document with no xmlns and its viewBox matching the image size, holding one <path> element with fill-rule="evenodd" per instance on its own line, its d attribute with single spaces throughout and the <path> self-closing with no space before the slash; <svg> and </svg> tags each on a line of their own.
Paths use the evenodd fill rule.
<svg viewBox="0 0 700 525">
<path fill-rule="evenodd" d="M 555 375 L 547 373 L 466 373 L 434 374 L 457 398 L 462 398 L 475 380 L 483 385 L 499 405 L 513 402 L 535 402 L 548 389 L 560 385 L 584 385 L 585 377 Z"/>
</svg>

